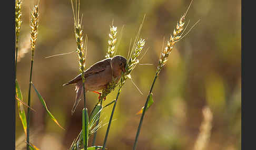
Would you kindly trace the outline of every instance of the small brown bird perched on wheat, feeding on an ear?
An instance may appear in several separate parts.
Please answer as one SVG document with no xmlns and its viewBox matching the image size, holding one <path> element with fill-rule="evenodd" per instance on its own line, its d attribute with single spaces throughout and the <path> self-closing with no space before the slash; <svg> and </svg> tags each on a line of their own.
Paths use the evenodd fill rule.
<svg viewBox="0 0 256 150">
<path fill-rule="evenodd" d="M 102 90 L 107 87 L 109 82 L 112 82 L 113 79 L 119 79 L 122 76 L 122 72 L 125 72 L 126 67 L 126 58 L 122 56 L 115 56 L 113 58 L 106 58 L 99 62 L 94 63 L 90 68 L 84 71 L 84 86 L 85 92 L 96 92 L 97 90 Z M 82 84 L 82 74 L 80 73 L 71 81 L 68 81 L 66 84 L 76 84 L 76 98 L 75 103 L 72 108 L 72 114 L 75 112 L 78 102 L 81 100 L 83 93 L 83 84 Z"/>
</svg>

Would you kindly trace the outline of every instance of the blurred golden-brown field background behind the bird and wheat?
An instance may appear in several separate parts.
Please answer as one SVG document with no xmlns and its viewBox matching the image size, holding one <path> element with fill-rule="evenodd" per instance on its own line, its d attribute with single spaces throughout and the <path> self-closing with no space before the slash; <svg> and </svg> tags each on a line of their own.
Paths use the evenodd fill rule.
<svg viewBox="0 0 256 150">
<path fill-rule="evenodd" d="M 17 80 L 26 103 L 31 63 L 29 10 L 33 4 L 37 1 L 22 4 L 17 64 Z M 149 50 L 140 63 L 153 66 L 138 65 L 131 74 L 143 95 L 131 80 L 125 83 L 107 139 L 108 149 L 132 149 L 140 121 L 136 113 L 150 90 L 163 38 L 166 45 L 189 4 L 190 0 L 81 1 L 84 34 L 88 35 L 86 68 L 105 58 L 112 21 L 117 26 L 117 41 L 121 40 L 117 54 L 127 57 L 130 40 L 135 38 L 146 14 L 141 38 L 146 39 L 144 52 Z M 33 90 L 32 108 L 36 112 L 32 111 L 30 139 L 40 149 L 68 149 L 81 130 L 83 102 L 71 115 L 75 86 L 62 84 L 79 73 L 78 57 L 76 53 L 45 57 L 76 48 L 71 2 L 40 1 L 39 14 L 32 81 L 66 130 L 50 119 Z M 204 149 L 241 149 L 241 1 L 194 0 L 186 23 L 190 20 L 191 27 L 199 19 L 188 36 L 174 46 L 156 80 L 154 103 L 145 114 L 137 149 L 200 149 L 195 148 L 200 140 Z M 117 90 L 112 92 L 103 105 L 114 100 L 116 93 Z M 95 93 L 86 93 L 89 113 L 97 97 Z M 205 107 L 211 111 L 203 115 Z M 111 110 L 112 105 L 103 110 L 103 124 L 109 122 Z M 102 145 L 106 128 L 107 124 L 97 132 L 96 145 Z M 16 149 L 24 149 L 26 137 L 17 109 L 15 135 Z"/>
</svg>

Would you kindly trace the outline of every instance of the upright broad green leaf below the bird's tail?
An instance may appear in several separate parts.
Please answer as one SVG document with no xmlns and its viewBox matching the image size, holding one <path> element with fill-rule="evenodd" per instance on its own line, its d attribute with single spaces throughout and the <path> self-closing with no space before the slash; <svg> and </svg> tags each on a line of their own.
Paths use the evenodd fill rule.
<svg viewBox="0 0 256 150">
<path fill-rule="evenodd" d="M 83 143 L 88 146 L 88 111 L 87 108 L 85 109 L 86 111 L 82 111 L 82 137 L 83 137 Z M 84 115 L 85 114 L 85 115 Z M 86 118 L 85 118 L 86 116 Z"/>
</svg>

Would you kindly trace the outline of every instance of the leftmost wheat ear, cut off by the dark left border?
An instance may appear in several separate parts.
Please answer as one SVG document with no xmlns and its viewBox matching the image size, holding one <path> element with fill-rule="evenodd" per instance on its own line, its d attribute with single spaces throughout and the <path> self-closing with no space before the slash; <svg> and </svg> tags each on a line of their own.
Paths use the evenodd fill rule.
<svg viewBox="0 0 256 150">
<path fill-rule="evenodd" d="M 16 44 L 18 43 L 19 31 L 21 30 L 21 0 L 15 1 L 15 33 L 16 33 Z"/>
</svg>

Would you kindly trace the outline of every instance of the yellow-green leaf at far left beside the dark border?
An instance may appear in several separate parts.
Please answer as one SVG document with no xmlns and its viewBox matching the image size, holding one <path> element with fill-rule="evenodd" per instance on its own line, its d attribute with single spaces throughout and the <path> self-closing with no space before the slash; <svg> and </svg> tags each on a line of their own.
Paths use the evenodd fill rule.
<svg viewBox="0 0 256 150">
<path fill-rule="evenodd" d="M 18 98 L 19 100 L 22 101 L 23 98 L 22 98 L 21 88 L 19 88 L 17 80 L 15 80 L 15 83 L 16 83 L 16 86 L 15 86 L 16 87 L 16 99 Z M 27 135 L 26 113 L 25 113 L 23 105 L 22 105 L 22 103 L 20 101 L 17 101 L 17 105 L 18 105 L 18 115 L 19 115 L 19 118 L 21 119 L 24 132 Z"/>
</svg>

